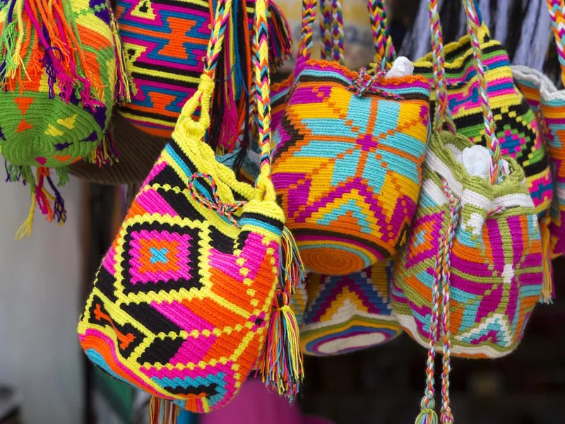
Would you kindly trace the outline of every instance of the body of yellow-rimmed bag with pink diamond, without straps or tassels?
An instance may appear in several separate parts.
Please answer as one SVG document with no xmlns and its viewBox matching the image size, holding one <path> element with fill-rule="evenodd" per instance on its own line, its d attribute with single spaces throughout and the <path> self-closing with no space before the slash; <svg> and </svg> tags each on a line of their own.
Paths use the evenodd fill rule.
<svg viewBox="0 0 565 424">
<path fill-rule="evenodd" d="M 78 334 L 109 374 L 206 412 L 232 399 L 262 351 L 284 216 L 274 201 L 249 201 L 234 214 L 238 227 L 198 203 L 189 178 L 213 153 L 194 144 L 162 151 L 102 261 Z M 215 166 L 207 171 L 220 202 L 232 204 L 234 175 Z"/>
</svg>

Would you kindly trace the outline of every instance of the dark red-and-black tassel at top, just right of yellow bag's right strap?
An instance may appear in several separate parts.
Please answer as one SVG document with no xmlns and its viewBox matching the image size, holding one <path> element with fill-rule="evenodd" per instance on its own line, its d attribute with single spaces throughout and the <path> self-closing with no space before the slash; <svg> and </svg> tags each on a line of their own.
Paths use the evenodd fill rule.
<svg viewBox="0 0 565 424">
<path fill-rule="evenodd" d="M 283 61 L 294 56 L 292 52 L 292 31 L 283 11 L 270 1 L 268 5 L 269 63 L 273 71 Z"/>
</svg>

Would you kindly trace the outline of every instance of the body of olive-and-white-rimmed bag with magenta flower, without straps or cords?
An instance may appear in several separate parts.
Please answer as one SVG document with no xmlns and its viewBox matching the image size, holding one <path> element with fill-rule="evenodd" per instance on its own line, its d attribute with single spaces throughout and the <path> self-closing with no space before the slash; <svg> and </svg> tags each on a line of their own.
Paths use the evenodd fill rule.
<svg viewBox="0 0 565 424">
<path fill-rule="evenodd" d="M 414 225 L 394 269 L 392 304 L 408 334 L 429 348 L 436 257 L 451 225 L 445 180 L 461 204 L 449 252 L 451 354 L 498 358 L 518 346 L 540 300 L 540 229 L 516 161 L 511 175 L 492 188 L 456 163 L 451 152 L 471 143 L 450 134 L 429 141 Z M 436 349 L 442 351 L 441 343 Z"/>
</svg>

